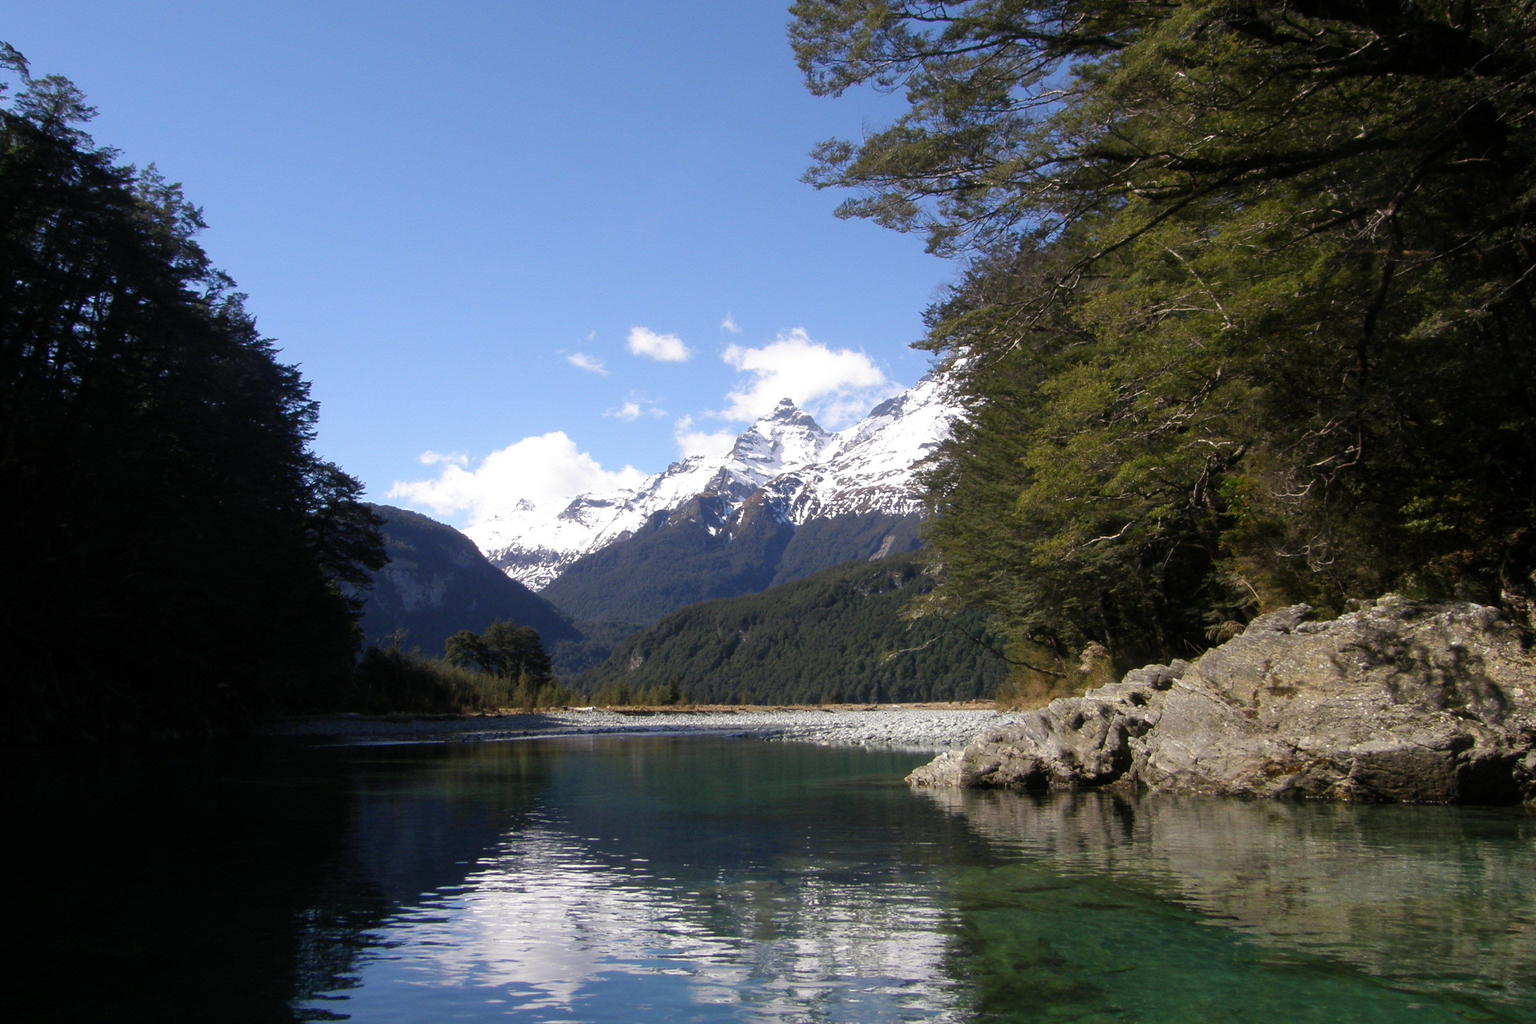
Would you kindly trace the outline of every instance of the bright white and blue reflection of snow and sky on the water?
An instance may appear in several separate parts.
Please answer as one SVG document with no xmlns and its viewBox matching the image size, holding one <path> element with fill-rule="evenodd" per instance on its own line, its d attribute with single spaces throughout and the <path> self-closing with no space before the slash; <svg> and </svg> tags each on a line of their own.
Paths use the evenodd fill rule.
<svg viewBox="0 0 1536 1024">
<path fill-rule="evenodd" d="M 538 820 L 384 923 L 330 1009 L 445 1019 L 455 993 L 533 1021 L 951 1019 L 937 889 L 808 864 L 684 883 Z"/>
</svg>

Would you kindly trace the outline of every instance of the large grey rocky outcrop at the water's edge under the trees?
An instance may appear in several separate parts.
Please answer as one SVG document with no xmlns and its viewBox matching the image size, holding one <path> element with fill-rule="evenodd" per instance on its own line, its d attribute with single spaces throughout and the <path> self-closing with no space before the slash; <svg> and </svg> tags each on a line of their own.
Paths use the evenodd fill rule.
<svg viewBox="0 0 1536 1024">
<path fill-rule="evenodd" d="M 1481 605 L 1296 605 L 945 754 L 914 786 L 1416 803 L 1536 800 L 1536 657 Z"/>
</svg>

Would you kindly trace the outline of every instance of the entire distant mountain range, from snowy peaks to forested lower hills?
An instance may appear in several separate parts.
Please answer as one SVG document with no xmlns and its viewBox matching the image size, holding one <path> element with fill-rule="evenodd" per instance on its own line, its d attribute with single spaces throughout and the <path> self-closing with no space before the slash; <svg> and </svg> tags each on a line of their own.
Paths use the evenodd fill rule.
<svg viewBox="0 0 1536 1024">
<path fill-rule="evenodd" d="M 696 699 L 711 700 L 748 691 L 770 700 L 977 695 L 1001 677 L 994 654 L 958 639 L 978 625 L 940 640 L 935 629 L 952 623 L 899 617 L 929 586 L 911 557 L 922 519 L 915 474 L 954 415 L 942 379 L 929 376 L 848 430 L 823 431 L 785 401 L 723 456 L 685 459 L 637 488 L 584 494 L 554 511 L 513 499 L 465 534 L 376 507 L 392 560 L 375 577 L 364 633 L 375 645 L 439 656 L 458 629 L 513 620 L 538 629 L 556 671 L 585 672 L 588 688 L 645 689 L 667 676 L 665 685 L 688 689 L 693 674 Z M 779 625 L 759 637 L 808 633 L 799 643 L 728 645 L 754 651 L 750 677 L 717 643 L 679 640 L 691 628 L 719 633 L 720 616 L 760 619 L 766 609 Z M 636 671 L 642 648 L 654 654 Z M 882 660 L 902 648 L 912 651 Z M 621 656 L 628 668 L 616 666 Z"/>
</svg>

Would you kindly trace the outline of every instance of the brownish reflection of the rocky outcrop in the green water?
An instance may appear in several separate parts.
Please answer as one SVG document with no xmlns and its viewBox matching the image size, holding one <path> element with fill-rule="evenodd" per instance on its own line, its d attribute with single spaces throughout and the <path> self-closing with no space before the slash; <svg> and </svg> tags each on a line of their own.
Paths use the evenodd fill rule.
<svg viewBox="0 0 1536 1024">
<path fill-rule="evenodd" d="M 1111 878 L 1281 955 L 1496 1004 L 1536 996 L 1536 818 L 1518 811 L 925 794 L 1040 884 Z"/>
</svg>

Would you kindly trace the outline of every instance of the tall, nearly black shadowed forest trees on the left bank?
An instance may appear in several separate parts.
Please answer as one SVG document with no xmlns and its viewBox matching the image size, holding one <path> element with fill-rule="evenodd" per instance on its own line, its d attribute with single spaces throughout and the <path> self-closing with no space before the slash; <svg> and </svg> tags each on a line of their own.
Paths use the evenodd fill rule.
<svg viewBox="0 0 1536 1024">
<path fill-rule="evenodd" d="M 316 407 L 197 207 L 0 45 L 6 738 L 187 735 L 333 706 L 382 565 Z"/>
</svg>

